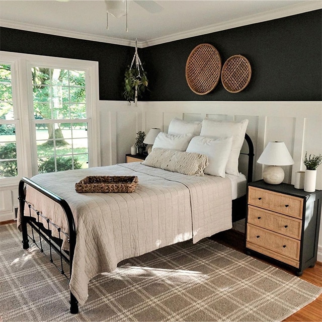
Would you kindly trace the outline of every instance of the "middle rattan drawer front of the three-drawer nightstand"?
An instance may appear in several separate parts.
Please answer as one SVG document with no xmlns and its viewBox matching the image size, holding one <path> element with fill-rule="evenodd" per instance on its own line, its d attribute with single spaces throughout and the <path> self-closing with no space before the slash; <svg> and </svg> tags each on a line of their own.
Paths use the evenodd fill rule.
<svg viewBox="0 0 322 322">
<path fill-rule="evenodd" d="M 301 239 L 302 220 L 300 219 L 287 217 L 254 206 L 248 206 L 247 221 L 285 236 Z"/>
</svg>

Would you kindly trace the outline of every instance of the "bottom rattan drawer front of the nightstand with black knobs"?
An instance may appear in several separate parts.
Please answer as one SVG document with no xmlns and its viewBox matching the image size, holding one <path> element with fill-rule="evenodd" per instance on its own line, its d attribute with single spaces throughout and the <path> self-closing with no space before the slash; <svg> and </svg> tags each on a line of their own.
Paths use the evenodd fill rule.
<svg viewBox="0 0 322 322">
<path fill-rule="evenodd" d="M 247 241 L 269 249 L 274 253 L 299 260 L 299 240 L 254 226 L 252 224 L 247 224 Z"/>
</svg>

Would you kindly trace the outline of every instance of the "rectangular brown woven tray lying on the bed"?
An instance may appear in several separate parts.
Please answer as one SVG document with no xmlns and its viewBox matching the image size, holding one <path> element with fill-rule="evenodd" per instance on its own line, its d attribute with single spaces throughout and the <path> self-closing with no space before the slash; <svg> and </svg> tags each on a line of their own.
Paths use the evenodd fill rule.
<svg viewBox="0 0 322 322">
<path fill-rule="evenodd" d="M 88 176 L 75 183 L 76 192 L 133 192 L 138 184 L 134 176 Z"/>
</svg>

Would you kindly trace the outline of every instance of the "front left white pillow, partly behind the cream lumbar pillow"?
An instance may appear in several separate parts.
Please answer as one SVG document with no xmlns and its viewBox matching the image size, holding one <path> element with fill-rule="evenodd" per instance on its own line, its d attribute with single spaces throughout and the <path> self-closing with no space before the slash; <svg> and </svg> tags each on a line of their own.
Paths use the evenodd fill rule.
<svg viewBox="0 0 322 322">
<path fill-rule="evenodd" d="M 192 137 L 192 134 L 173 135 L 160 132 L 155 138 L 152 149 L 159 147 L 163 149 L 185 151 Z"/>
</svg>

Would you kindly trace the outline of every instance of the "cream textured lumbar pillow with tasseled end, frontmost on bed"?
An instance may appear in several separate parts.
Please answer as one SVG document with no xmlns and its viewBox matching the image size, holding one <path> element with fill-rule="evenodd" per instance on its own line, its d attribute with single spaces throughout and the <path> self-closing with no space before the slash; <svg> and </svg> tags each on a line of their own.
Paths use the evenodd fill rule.
<svg viewBox="0 0 322 322">
<path fill-rule="evenodd" d="M 200 153 L 189 153 L 170 149 L 154 148 L 142 165 L 178 172 L 187 176 L 204 175 L 208 157 Z"/>
</svg>

